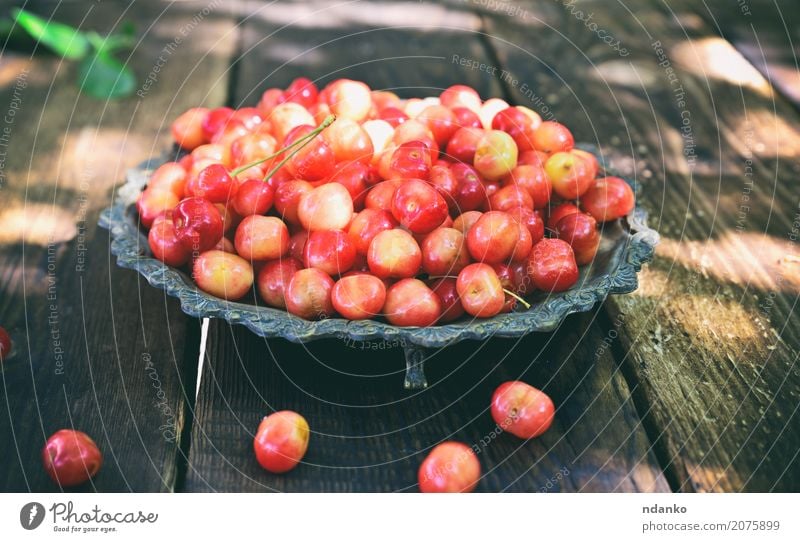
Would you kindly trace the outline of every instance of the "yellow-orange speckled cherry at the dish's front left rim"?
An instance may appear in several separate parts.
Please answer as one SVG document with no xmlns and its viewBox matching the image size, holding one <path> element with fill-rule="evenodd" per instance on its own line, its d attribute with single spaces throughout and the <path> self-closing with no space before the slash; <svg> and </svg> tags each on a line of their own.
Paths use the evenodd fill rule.
<svg viewBox="0 0 800 542">
<path fill-rule="evenodd" d="M 241 256 L 209 250 L 195 259 L 192 278 L 204 292 L 235 301 L 253 287 L 253 268 Z"/>
</svg>

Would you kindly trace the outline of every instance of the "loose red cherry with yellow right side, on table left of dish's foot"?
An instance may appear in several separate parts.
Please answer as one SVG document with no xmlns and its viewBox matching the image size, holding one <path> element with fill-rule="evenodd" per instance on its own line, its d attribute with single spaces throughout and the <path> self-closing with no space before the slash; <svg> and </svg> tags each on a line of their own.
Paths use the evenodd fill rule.
<svg viewBox="0 0 800 542">
<path fill-rule="evenodd" d="M 253 440 L 256 460 L 276 474 L 292 470 L 308 450 L 311 431 L 297 412 L 282 410 L 261 420 Z"/>
</svg>

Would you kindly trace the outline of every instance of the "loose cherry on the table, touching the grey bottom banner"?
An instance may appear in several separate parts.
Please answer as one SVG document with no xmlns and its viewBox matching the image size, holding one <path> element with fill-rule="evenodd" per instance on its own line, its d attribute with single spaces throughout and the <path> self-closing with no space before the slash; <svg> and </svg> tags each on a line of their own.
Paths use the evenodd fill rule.
<svg viewBox="0 0 800 542">
<path fill-rule="evenodd" d="M 417 473 L 422 493 L 470 493 L 480 478 L 478 456 L 460 442 L 443 442 L 436 446 Z"/>
</svg>

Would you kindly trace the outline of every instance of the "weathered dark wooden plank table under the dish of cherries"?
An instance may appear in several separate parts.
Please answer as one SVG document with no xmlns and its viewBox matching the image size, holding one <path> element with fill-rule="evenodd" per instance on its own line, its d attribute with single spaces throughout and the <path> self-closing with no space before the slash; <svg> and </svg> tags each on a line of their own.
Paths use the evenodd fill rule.
<svg viewBox="0 0 800 542">
<path fill-rule="evenodd" d="M 97 491 L 414 491 L 443 439 L 480 446 L 483 491 L 800 489 L 800 19 L 739 4 L 61 3 L 54 17 L 84 28 L 136 23 L 142 84 L 162 60 L 144 97 L 104 103 L 79 95 L 73 64 L 0 57 L 0 104 L 18 106 L 0 187 L 0 324 L 17 348 L 0 488 L 57 489 L 39 453 L 76 427 L 105 453 Z M 185 108 L 253 104 L 299 75 L 403 96 L 466 83 L 567 123 L 640 185 L 662 241 L 639 289 L 551 334 L 447 348 L 421 393 L 392 345 L 297 346 L 221 321 L 199 372 L 201 322 L 116 266 L 98 214 Z M 512 378 L 558 406 L 541 438 L 492 436 L 491 392 Z M 275 409 L 314 431 L 308 464 L 282 476 L 251 451 Z"/>
</svg>

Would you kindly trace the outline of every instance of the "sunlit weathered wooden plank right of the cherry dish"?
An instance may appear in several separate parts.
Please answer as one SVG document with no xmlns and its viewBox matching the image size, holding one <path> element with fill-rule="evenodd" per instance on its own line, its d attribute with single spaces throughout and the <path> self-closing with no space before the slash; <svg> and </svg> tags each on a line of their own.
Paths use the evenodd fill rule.
<svg viewBox="0 0 800 542">
<path fill-rule="evenodd" d="M 659 459 L 682 491 L 797 490 L 797 112 L 695 5 L 570 5 L 484 15 L 501 62 L 635 178 L 662 235 L 639 290 L 607 302 Z"/>
</svg>

